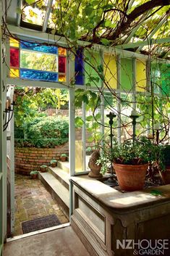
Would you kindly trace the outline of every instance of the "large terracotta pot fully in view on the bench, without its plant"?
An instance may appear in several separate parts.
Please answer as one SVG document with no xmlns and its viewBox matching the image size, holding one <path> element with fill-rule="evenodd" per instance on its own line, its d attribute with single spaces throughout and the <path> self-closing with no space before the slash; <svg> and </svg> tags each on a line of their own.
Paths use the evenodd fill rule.
<svg viewBox="0 0 170 256">
<path fill-rule="evenodd" d="M 148 164 L 145 165 L 120 165 L 114 163 L 119 186 L 124 191 L 143 189 Z"/>
</svg>

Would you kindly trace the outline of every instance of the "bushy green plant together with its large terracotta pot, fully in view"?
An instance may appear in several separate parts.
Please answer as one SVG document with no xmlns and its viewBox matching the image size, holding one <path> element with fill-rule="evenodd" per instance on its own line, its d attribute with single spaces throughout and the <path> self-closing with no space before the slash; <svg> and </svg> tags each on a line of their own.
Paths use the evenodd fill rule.
<svg viewBox="0 0 170 256">
<path fill-rule="evenodd" d="M 132 140 L 124 141 L 120 145 L 114 142 L 113 150 L 107 149 L 104 154 L 101 171 L 104 173 L 104 170 L 107 170 L 107 158 L 109 161 L 112 160 L 119 186 L 124 191 L 143 189 L 149 162 L 158 162 L 162 165 L 160 146 L 152 144 L 144 137 L 135 141 L 135 144 Z"/>
</svg>

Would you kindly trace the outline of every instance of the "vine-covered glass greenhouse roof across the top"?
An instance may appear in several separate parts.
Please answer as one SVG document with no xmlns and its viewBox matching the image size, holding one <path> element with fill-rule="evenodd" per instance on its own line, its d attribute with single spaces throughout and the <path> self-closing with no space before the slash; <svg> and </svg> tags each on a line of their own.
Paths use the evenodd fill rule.
<svg viewBox="0 0 170 256">
<path fill-rule="evenodd" d="M 4 7 L 11 25 L 170 58 L 170 0 L 12 0 Z"/>
</svg>

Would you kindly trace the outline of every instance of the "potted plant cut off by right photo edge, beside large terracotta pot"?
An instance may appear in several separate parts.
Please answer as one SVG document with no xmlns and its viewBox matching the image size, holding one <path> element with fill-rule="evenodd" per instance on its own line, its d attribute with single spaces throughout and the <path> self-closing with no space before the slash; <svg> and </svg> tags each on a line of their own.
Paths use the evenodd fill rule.
<svg viewBox="0 0 170 256">
<path fill-rule="evenodd" d="M 159 173 L 164 184 L 170 184 L 170 145 L 161 146 L 163 166 L 159 168 Z"/>
</svg>

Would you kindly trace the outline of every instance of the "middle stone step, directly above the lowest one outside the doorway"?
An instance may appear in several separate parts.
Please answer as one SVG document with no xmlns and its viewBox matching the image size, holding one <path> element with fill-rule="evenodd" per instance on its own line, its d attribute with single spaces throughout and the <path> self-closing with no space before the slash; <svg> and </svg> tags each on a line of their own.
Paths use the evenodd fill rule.
<svg viewBox="0 0 170 256">
<path fill-rule="evenodd" d="M 69 190 L 69 173 L 59 167 L 48 167 L 48 172 L 51 173 L 59 182 Z"/>
</svg>

